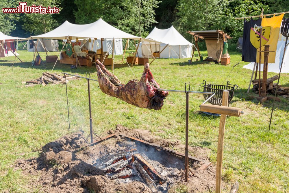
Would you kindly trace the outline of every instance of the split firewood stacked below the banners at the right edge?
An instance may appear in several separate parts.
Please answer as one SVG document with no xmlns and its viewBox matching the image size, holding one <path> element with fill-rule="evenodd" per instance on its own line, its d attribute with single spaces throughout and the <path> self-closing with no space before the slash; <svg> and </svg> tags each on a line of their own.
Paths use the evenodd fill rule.
<svg viewBox="0 0 289 193">
<path fill-rule="evenodd" d="M 275 75 L 271 78 L 268 78 L 266 81 L 266 94 L 275 94 L 277 91 L 277 95 L 282 96 L 283 98 L 289 97 L 289 87 L 282 87 L 282 85 L 278 85 L 277 82 L 274 82 L 277 80 L 279 76 Z M 253 91 L 257 94 L 259 93 L 259 79 L 252 80 L 253 84 Z M 261 84 L 261 90 L 262 90 L 262 79 L 260 79 Z"/>
</svg>

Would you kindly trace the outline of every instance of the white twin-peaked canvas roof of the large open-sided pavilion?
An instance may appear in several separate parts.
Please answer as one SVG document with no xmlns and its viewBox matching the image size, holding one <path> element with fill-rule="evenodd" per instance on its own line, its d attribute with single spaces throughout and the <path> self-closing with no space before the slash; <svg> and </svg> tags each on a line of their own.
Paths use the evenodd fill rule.
<svg viewBox="0 0 289 193">
<path fill-rule="evenodd" d="M 151 41 L 156 42 L 153 40 L 147 40 L 142 37 L 134 36 L 123 32 L 116 27 L 106 23 L 102 19 L 99 19 L 93 23 L 89 24 L 73 24 L 65 21 L 62 25 L 55 28 L 54 30 L 47 32 L 45 34 L 40 34 L 37 36 L 31 36 L 26 38 L 29 39 L 58 39 L 58 40 L 75 40 L 75 39 L 86 39 L 86 38 L 93 38 L 95 39 L 118 39 L 118 38 L 129 38 L 138 41 Z M 114 41 L 112 41 L 114 43 Z M 114 47 L 114 45 L 113 45 Z M 112 52 L 114 53 L 114 52 Z M 102 50 L 103 54 L 103 50 Z M 135 60 L 135 54 L 134 59 Z M 112 54 L 112 69 L 114 69 L 114 54 Z"/>
</svg>

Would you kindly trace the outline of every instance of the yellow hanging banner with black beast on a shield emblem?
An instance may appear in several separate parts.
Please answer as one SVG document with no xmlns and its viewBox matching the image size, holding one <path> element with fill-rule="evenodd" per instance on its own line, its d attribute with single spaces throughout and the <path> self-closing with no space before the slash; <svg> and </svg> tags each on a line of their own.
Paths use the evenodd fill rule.
<svg viewBox="0 0 289 193">
<path fill-rule="evenodd" d="M 275 57 L 276 57 L 276 49 L 277 49 L 277 43 L 278 38 L 280 34 L 280 26 L 282 19 L 284 17 L 284 14 L 281 14 L 279 16 L 274 16 L 271 18 L 263 18 L 261 25 L 262 25 L 262 47 L 261 50 L 264 51 L 264 45 L 270 45 L 269 50 L 275 51 L 270 52 L 268 57 L 268 63 L 275 63 Z M 256 31 L 259 41 L 260 41 L 260 30 Z M 263 44 L 264 42 L 264 44 Z M 260 42 L 259 42 L 260 47 Z M 258 51 L 259 49 L 257 49 Z M 257 54 L 258 53 L 258 54 Z M 256 61 L 259 62 L 259 52 L 257 52 L 256 55 Z M 264 54 L 261 54 L 261 64 L 264 63 Z"/>
</svg>

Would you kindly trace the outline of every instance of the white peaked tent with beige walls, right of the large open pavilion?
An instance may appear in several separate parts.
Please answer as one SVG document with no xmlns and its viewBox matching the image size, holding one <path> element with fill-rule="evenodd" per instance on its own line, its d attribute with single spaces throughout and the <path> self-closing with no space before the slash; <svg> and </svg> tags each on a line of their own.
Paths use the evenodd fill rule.
<svg viewBox="0 0 289 193">
<path fill-rule="evenodd" d="M 154 27 L 146 39 L 160 43 L 140 43 L 139 57 L 152 57 L 151 53 L 160 52 L 160 58 L 190 58 L 192 56 L 192 43 L 187 41 L 173 26 L 168 29 Z"/>
</svg>

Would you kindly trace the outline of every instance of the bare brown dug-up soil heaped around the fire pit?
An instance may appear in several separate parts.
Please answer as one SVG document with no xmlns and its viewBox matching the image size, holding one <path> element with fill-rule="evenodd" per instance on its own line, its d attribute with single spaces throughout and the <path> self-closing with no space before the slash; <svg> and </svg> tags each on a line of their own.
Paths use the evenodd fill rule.
<svg viewBox="0 0 289 193">
<path fill-rule="evenodd" d="M 110 130 L 107 134 L 118 133 L 136 137 L 154 144 L 160 144 L 168 149 L 174 146 L 175 150 L 183 150 L 184 145 L 179 141 L 169 141 L 154 136 L 150 131 L 133 129 L 129 130 L 121 125 L 117 125 L 115 130 Z M 107 135 L 103 134 L 103 136 Z M 93 162 L 106 155 L 112 155 L 121 152 L 135 144 L 131 141 L 117 136 L 105 140 L 95 146 L 86 146 L 83 132 L 63 136 L 56 141 L 50 142 L 42 147 L 42 153 L 37 158 L 16 161 L 15 170 L 22 169 L 24 175 L 39 176 L 39 179 L 29 182 L 29 186 L 42 187 L 40 192 L 151 192 L 141 181 L 135 179 L 111 180 L 105 177 L 99 169 L 93 166 Z M 203 162 L 207 162 L 210 150 L 190 147 L 190 155 L 198 157 Z M 207 170 L 198 170 L 203 164 L 194 163 L 190 166 L 193 174 L 190 174 L 188 183 L 184 183 L 182 173 L 184 164 L 182 161 L 176 161 L 175 156 L 169 156 L 164 159 L 152 159 L 155 151 L 145 157 L 154 166 L 157 166 L 158 172 L 169 177 L 168 184 L 160 189 L 160 192 L 175 192 L 180 185 L 186 185 L 188 192 L 208 192 L 214 190 L 215 186 L 215 166 L 209 166 Z M 157 159 L 158 158 L 158 159 Z M 175 160 L 175 161 L 174 161 Z M 163 162 L 163 163 L 162 163 Z M 175 163 L 173 163 L 175 162 Z M 168 174 L 174 168 L 179 169 L 176 175 Z M 182 177 L 182 180 L 181 180 Z M 33 190 L 33 188 L 32 188 Z"/>
</svg>

